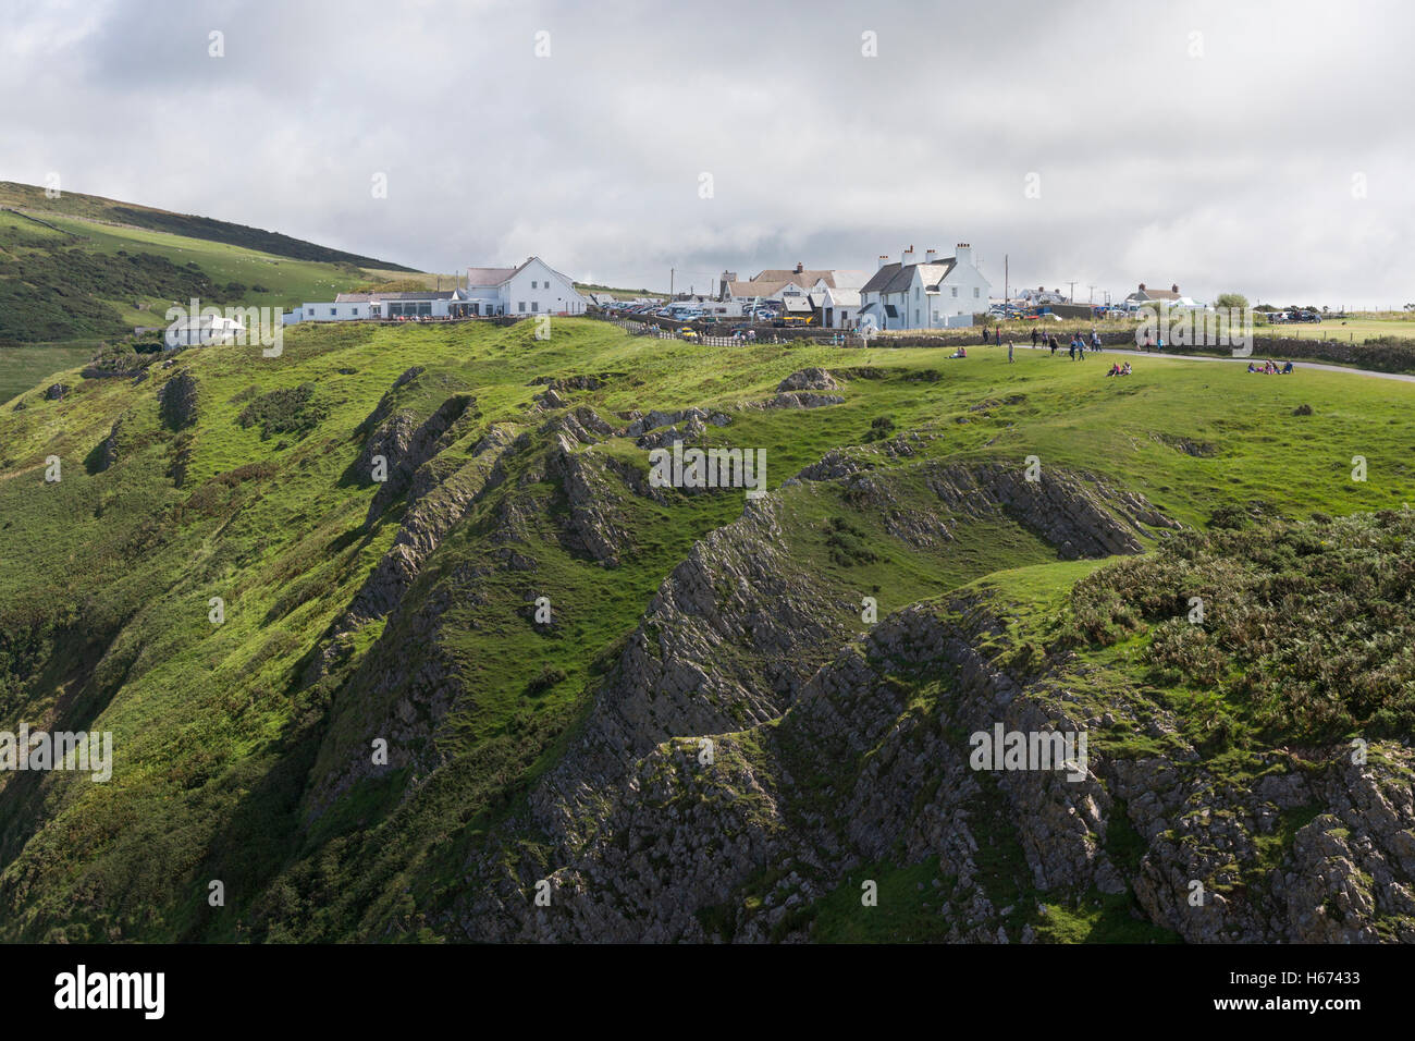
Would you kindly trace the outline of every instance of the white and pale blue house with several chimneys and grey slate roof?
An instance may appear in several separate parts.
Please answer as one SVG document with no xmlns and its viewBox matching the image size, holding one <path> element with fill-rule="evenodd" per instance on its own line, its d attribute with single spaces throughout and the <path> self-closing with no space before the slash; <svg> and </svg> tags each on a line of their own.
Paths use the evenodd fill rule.
<svg viewBox="0 0 1415 1041">
<path fill-rule="evenodd" d="M 916 258 L 910 246 L 897 263 L 880 258 L 879 271 L 860 288 L 859 320 L 880 330 L 971 326 L 974 313 L 988 310 L 990 288 L 966 242 L 948 258 L 934 249 Z"/>
</svg>

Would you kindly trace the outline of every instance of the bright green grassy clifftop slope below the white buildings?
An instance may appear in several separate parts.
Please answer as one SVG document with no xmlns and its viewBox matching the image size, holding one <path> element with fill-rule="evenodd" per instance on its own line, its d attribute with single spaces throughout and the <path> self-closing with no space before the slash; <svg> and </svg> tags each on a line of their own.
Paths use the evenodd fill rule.
<svg viewBox="0 0 1415 1041">
<path fill-rule="evenodd" d="M 139 234 L 82 232 L 108 256 Z M 142 235 L 177 248 L 163 232 Z M 241 278 L 255 259 L 233 246 L 180 248 L 214 280 L 258 278 Z M 287 263 L 313 295 L 320 271 Z M 502 855 L 488 854 L 501 848 L 494 836 L 565 761 L 665 578 L 743 516 L 740 490 L 647 494 L 647 450 L 623 432 L 631 409 L 720 412 L 727 422 L 708 425 L 702 443 L 766 450 L 777 504 L 767 548 L 812 576 L 811 596 L 857 615 L 870 595 L 882 619 L 1006 575 L 996 581 L 1026 626 L 1029 599 L 1037 619 L 1050 616 L 1094 567 L 1063 559 L 1022 523 L 914 531 L 910 518 L 937 503 L 930 465 L 1010 472 L 1036 456 L 1044 472 L 1102 476 L 1196 528 L 1215 516 L 1265 518 L 1204 550 L 1230 557 L 1242 538 L 1286 540 L 1279 516 L 1401 508 L 1415 496 L 1415 387 L 1402 382 L 1254 378 L 1173 360 L 1139 360 L 1135 375 L 1108 380 L 1104 355 L 1019 350 L 1009 365 L 1005 348 L 983 347 L 965 361 L 935 350 L 705 347 L 570 319 L 549 340 L 533 331 L 300 326 L 279 358 L 258 347 L 184 351 L 137 382 L 71 371 L 62 401 L 33 389 L 4 405 L 0 729 L 112 731 L 116 766 L 109 783 L 0 775 L 0 936 L 457 938 L 468 864 Z M 808 367 L 833 372 L 845 401 L 737 408 Z M 536 381 L 550 377 L 593 380 L 538 398 Z M 185 378 L 194 398 L 174 408 L 183 395 L 166 388 Z M 576 423 L 594 416 L 618 432 L 576 443 Z M 436 445 L 419 455 L 413 436 L 383 449 L 395 470 L 410 469 L 385 489 L 368 462 L 379 432 L 399 423 Z M 869 479 L 787 483 L 846 446 L 869 460 Z M 51 456 L 57 483 L 45 482 Z M 1354 456 L 1365 480 L 1351 477 Z M 886 499 L 872 480 L 890 474 Z M 444 535 L 389 609 L 351 610 L 415 518 L 446 520 Z M 616 552 L 596 542 L 603 531 Z M 1255 585 L 1259 564 L 1275 567 L 1262 558 L 1203 574 Z M 1030 567 L 1012 571 L 1020 565 Z M 1108 591 L 1138 578 L 1097 572 L 1112 574 L 1084 579 L 1095 585 L 1081 620 L 1105 635 L 1095 652 L 1111 656 L 1105 667 L 1133 671 L 1126 640 L 1157 616 L 1115 606 Z M 1316 603 L 1322 581 L 1310 569 L 1295 592 Z M 535 623 L 538 596 L 553 623 Z M 219 625 L 211 598 L 224 601 Z M 1056 636 L 1043 629 L 1037 640 Z M 1251 661 L 1232 639 L 1225 630 L 1225 657 L 1214 659 L 1224 676 Z M 717 664 L 754 669 L 750 653 Z M 1157 649 L 1153 667 L 1173 653 Z M 1405 711 L 1392 705 L 1390 719 Z M 1272 718 L 1241 722 L 1259 732 Z M 378 736 L 395 755 L 371 769 Z M 536 841 L 526 833 L 504 855 L 545 858 Z M 998 848 L 1000 865 L 1016 860 Z M 889 868 L 890 892 L 913 889 L 910 868 Z M 208 905 L 211 880 L 224 882 L 225 906 Z M 860 935 L 831 906 L 822 939 Z M 1128 935 L 1068 908 L 1051 919 L 1058 939 Z M 870 935 L 913 928 L 906 914 Z"/>
</svg>

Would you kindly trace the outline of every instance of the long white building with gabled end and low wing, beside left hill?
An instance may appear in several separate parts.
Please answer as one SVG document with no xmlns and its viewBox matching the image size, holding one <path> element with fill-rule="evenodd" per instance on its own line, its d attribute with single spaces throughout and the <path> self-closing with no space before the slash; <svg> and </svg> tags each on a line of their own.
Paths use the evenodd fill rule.
<svg viewBox="0 0 1415 1041">
<path fill-rule="evenodd" d="M 460 286 L 449 290 L 340 293 L 334 300 L 297 307 L 284 316 L 284 324 L 362 319 L 584 314 L 589 306 L 574 289 L 574 283 L 539 256 L 532 256 L 516 268 L 467 268 L 460 282 Z"/>
</svg>

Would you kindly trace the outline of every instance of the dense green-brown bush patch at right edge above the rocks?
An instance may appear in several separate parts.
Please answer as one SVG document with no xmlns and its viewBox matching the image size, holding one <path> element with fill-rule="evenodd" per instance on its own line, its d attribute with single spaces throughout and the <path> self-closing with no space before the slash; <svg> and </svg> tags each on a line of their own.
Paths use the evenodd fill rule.
<svg viewBox="0 0 1415 1041">
<path fill-rule="evenodd" d="M 1201 620 L 1190 620 L 1201 601 Z M 1415 727 L 1415 513 L 1186 535 L 1073 591 L 1077 635 L 1293 741 Z"/>
</svg>

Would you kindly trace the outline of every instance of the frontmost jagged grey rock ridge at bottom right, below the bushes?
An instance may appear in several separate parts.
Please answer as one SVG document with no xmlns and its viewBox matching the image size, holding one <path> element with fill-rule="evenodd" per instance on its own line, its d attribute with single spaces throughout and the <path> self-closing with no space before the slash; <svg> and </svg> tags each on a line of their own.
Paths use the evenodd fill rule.
<svg viewBox="0 0 1415 1041">
<path fill-rule="evenodd" d="M 528 878 L 488 865 L 492 884 L 467 901 L 463 932 L 809 939 L 812 915 L 797 912 L 863 865 L 937 858 L 920 911 L 935 919 L 930 935 L 951 942 L 1029 942 L 1046 928 L 1046 904 L 1126 894 L 1155 935 L 1190 942 L 1415 942 L 1415 753 L 1382 745 L 1378 763 L 1358 768 L 1334 749 L 1322 770 L 1275 759 L 1240 787 L 1152 719 L 1170 751 L 1118 755 L 1105 732 L 1143 710 L 1118 697 L 1114 712 L 1092 715 L 1068 690 L 1084 671 L 1075 660 L 1002 667 L 1003 632 L 976 596 L 907 608 L 811 676 L 774 725 L 699 731 L 647 752 L 616 732 L 637 761 L 611 789 L 582 790 L 596 827 L 538 868 L 550 905 L 532 904 Z M 921 700 L 901 676 L 937 677 L 944 693 Z M 1088 732 L 1084 769 L 974 769 L 968 735 L 996 725 Z M 1295 813 L 1307 823 L 1283 847 Z"/>
</svg>

